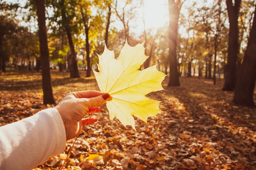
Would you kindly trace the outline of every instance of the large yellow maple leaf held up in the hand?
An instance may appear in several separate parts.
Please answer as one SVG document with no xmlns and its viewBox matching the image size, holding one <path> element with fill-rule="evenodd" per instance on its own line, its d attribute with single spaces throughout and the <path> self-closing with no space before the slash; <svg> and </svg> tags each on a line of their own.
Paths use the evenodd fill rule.
<svg viewBox="0 0 256 170">
<path fill-rule="evenodd" d="M 164 90 L 162 81 L 164 73 L 157 70 L 156 65 L 139 70 L 148 58 L 144 54 L 143 44 L 132 47 L 126 42 L 116 59 L 114 52 L 105 49 L 99 56 L 99 72 L 93 70 L 99 89 L 109 93 L 111 101 L 106 103 L 110 120 L 115 117 L 124 126 L 135 129 L 134 117 L 147 122 L 148 117 L 162 112 L 157 100 L 146 97 L 153 91 Z"/>
</svg>

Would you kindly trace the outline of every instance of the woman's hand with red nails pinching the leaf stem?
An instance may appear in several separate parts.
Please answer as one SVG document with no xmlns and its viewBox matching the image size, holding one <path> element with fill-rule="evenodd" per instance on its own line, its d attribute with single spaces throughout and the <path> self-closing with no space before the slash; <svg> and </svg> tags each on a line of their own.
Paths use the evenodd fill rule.
<svg viewBox="0 0 256 170">
<path fill-rule="evenodd" d="M 63 120 L 66 139 L 72 139 L 78 135 L 81 128 L 93 124 L 97 119 L 83 119 L 87 113 L 99 112 L 110 95 L 99 91 L 79 91 L 67 93 L 64 99 L 55 108 Z"/>
</svg>

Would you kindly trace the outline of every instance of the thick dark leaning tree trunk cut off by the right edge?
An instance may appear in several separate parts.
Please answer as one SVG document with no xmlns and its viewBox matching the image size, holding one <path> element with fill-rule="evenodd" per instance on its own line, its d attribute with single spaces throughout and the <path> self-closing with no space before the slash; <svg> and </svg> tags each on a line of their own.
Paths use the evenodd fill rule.
<svg viewBox="0 0 256 170">
<path fill-rule="evenodd" d="M 256 5 L 255 5 L 256 7 Z M 254 107 L 253 95 L 256 80 L 256 9 L 243 64 L 238 72 L 233 102 Z"/>
</svg>

